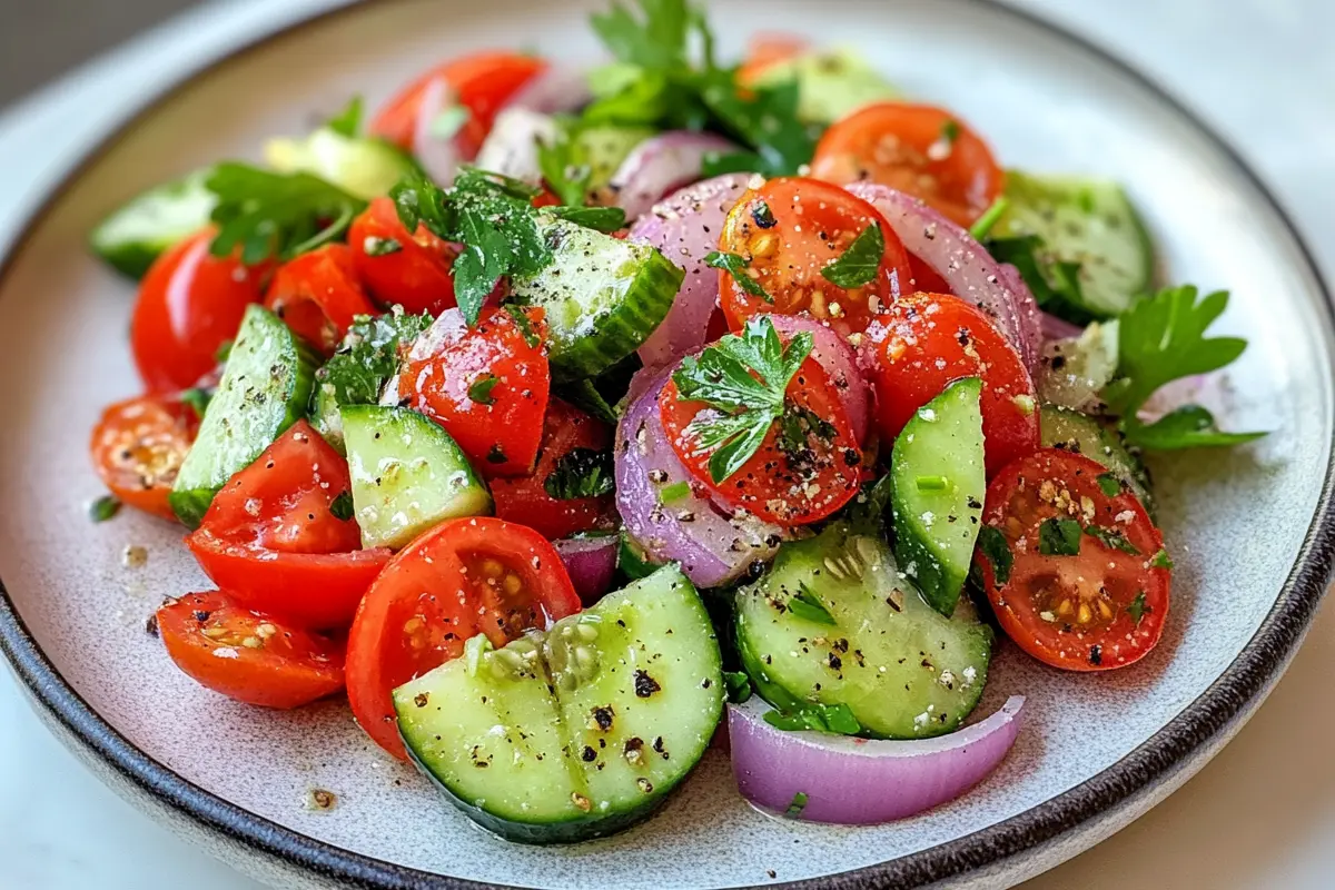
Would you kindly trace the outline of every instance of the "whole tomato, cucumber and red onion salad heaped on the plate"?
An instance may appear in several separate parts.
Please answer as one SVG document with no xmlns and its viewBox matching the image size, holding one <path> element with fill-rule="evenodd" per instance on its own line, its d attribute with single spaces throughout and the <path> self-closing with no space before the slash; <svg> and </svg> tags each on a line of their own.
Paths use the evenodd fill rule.
<svg viewBox="0 0 1335 890">
<path fill-rule="evenodd" d="M 180 670 L 346 691 L 514 841 L 645 818 L 725 715 L 770 811 L 949 801 L 1020 729 L 1024 690 L 965 723 L 1004 640 L 1080 683 L 1160 639 L 1143 456 L 1262 435 L 1181 404 L 1228 295 L 856 53 L 591 25 L 593 65 L 470 53 L 112 212 L 144 394 L 93 518 L 188 530 Z"/>
</svg>

